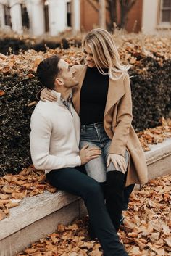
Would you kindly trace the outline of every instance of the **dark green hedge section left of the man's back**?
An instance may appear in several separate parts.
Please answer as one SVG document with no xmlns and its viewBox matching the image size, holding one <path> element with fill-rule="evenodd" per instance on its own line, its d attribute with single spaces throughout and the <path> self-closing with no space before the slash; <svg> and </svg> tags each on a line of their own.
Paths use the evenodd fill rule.
<svg viewBox="0 0 171 256">
<path fill-rule="evenodd" d="M 0 174 L 17 172 L 31 164 L 29 133 L 30 116 L 35 105 L 36 92 L 41 88 L 36 78 L 25 79 L 15 75 L 0 76 L 4 96 L 1 96 L 1 159 Z M 1 87 L 2 88 L 2 87 Z"/>
</svg>

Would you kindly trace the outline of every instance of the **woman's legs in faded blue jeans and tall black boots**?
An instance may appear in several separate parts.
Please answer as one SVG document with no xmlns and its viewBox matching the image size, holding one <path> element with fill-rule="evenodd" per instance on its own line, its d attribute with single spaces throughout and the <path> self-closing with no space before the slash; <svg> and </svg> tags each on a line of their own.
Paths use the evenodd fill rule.
<svg viewBox="0 0 171 256">
<path fill-rule="evenodd" d="M 118 230 L 120 219 L 122 219 L 122 210 L 127 208 L 130 193 L 133 191 L 134 185 L 125 188 L 126 174 L 122 173 L 119 166 L 116 169 L 112 161 L 107 167 L 111 139 L 107 136 L 103 123 L 81 125 L 80 149 L 86 144 L 101 149 L 101 155 L 86 163 L 85 168 L 88 176 L 101 183 L 107 210 L 114 227 Z M 125 149 L 125 162 L 128 166 L 129 153 L 127 149 Z"/>
</svg>

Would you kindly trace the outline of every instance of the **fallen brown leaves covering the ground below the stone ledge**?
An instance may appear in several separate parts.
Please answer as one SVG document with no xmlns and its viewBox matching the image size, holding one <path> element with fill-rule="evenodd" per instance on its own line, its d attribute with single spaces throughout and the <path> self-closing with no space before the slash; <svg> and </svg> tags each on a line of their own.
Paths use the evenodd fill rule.
<svg viewBox="0 0 171 256">
<path fill-rule="evenodd" d="M 133 191 L 120 241 L 130 256 L 171 255 L 171 176 L 149 181 L 141 191 Z M 70 226 L 60 224 L 57 231 L 34 242 L 17 256 L 101 256 L 97 240 L 87 233 L 87 219 Z"/>
</svg>

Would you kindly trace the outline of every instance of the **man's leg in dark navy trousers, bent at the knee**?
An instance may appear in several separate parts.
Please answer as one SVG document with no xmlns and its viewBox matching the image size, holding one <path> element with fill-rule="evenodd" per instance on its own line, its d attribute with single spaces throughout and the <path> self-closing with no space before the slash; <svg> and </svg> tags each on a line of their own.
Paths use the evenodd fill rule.
<svg viewBox="0 0 171 256">
<path fill-rule="evenodd" d="M 97 181 L 81 173 L 76 168 L 52 170 L 47 174 L 47 178 L 58 189 L 83 198 L 91 225 L 96 232 L 105 255 L 128 256 L 109 218 L 106 206 L 104 205 L 103 192 Z"/>
</svg>

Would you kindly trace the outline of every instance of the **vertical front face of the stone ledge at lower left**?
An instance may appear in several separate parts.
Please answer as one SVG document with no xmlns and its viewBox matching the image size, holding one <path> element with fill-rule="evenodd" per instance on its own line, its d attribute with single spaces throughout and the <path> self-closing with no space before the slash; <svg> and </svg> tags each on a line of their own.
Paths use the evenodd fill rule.
<svg viewBox="0 0 171 256">
<path fill-rule="evenodd" d="M 38 241 L 47 234 L 51 234 L 52 232 L 56 231 L 59 223 L 67 225 L 70 224 L 72 220 L 75 220 L 75 218 L 78 218 L 78 216 L 83 214 L 85 215 L 83 210 L 81 210 L 82 205 L 82 201 L 80 202 L 80 200 L 70 202 L 69 205 L 62 207 L 56 212 L 53 212 L 50 215 L 47 215 L 29 226 L 25 226 L 25 228 L 22 228 L 14 234 L 2 239 L 0 241 L 0 255 L 14 256 L 17 254 L 17 252 L 22 252 L 22 250 L 25 249 L 25 247 L 28 247 L 33 241 Z M 39 208 L 39 206 L 37 207 Z M 40 211 L 41 210 L 42 209 L 40 209 Z M 34 212 L 32 212 L 30 218 L 32 218 L 33 215 Z M 20 216 L 18 216 L 17 222 L 19 221 Z"/>
</svg>

